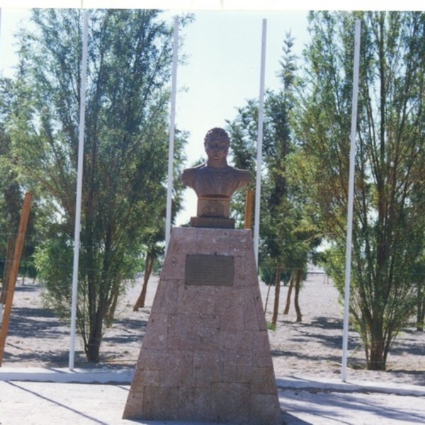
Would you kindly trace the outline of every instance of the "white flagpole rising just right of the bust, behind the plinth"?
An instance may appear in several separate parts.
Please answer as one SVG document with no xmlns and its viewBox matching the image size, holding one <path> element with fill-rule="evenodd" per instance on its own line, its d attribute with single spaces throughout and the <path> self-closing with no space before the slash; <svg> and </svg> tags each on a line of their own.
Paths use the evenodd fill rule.
<svg viewBox="0 0 425 425">
<path fill-rule="evenodd" d="M 259 128 L 257 134 L 256 186 L 254 211 L 254 254 L 256 265 L 259 265 L 259 234 L 260 234 L 260 200 L 261 200 L 261 162 L 263 157 L 263 111 L 264 111 L 264 80 L 266 71 L 266 35 L 267 19 L 263 19 L 261 38 L 261 73 L 259 97 Z"/>
</svg>

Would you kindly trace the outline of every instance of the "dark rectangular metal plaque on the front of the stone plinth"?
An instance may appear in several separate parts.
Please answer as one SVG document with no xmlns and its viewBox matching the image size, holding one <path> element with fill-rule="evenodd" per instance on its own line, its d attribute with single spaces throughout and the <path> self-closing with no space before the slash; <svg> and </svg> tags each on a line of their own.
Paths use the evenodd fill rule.
<svg viewBox="0 0 425 425">
<path fill-rule="evenodd" d="M 232 286 L 233 278 L 233 256 L 207 254 L 186 255 L 186 285 Z"/>
</svg>

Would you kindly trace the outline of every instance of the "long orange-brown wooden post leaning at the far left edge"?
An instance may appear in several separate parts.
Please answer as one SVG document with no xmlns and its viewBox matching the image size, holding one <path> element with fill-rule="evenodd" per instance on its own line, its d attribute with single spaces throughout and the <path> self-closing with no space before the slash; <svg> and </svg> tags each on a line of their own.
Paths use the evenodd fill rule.
<svg viewBox="0 0 425 425">
<path fill-rule="evenodd" d="M 32 196 L 31 193 L 26 193 L 23 200 L 23 207 L 21 213 L 21 220 L 19 220 L 18 236 L 16 237 L 15 254 L 13 255 L 13 263 L 9 275 L 6 303 L 4 306 L 3 321 L 0 329 L 0 366 L 3 363 L 4 346 L 6 344 L 6 336 L 8 331 L 8 324 L 11 317 L 13 293 L 15 292 L 16 278 L 18 277 L 19 263 L 21 261 L 23 241 L 25 239 L 26 227 L 28 224 L 28 217 L 30 215 Z"/>
</svg>

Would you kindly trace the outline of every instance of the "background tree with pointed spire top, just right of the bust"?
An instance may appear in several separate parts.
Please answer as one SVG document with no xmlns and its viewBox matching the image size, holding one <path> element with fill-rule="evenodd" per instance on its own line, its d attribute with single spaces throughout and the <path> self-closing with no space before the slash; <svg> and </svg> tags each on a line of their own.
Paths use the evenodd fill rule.
<svg viewBox="0 0 425 425">
<path fill-rule="evenodd" d="M 283 44 L 280 62 L 281 89 L 268 91 L 264 107 L 263 130 L 263 183 L 261 188 L 261 227 L 259 268 L 266 282 L 275 285 L 275 307 L 272 324 L 276 326 L 280 281 L 295 282 L 298 294 L 305 276 L 308 256 L 317 244 L 316 232 L 308 209 L 299 196 L 297 183 L 290 179 L 288 164 L 296 152 L 291 130 L 291 114 L 294 106 L 296 57 L 293 55 L 294 40 L 290 33 Z M 237 166 L 254 169 L 254 141 L 258 126 L 258 106 L 249 101 L 239 109 L 237 118 L 229 123 L 232 135 L 232 151 Z M 291 277 L 291 275 L 293 275 Z M 273 276 L 273 279 L 266 276 Z M 297 321 L 302 314 L 295 300 Z"/>
</svg>

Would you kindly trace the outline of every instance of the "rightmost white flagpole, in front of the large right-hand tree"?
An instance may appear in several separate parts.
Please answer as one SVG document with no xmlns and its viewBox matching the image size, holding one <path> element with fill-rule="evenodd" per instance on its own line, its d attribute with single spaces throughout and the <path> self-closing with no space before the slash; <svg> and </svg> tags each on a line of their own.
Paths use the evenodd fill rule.
<svg viewBox="0 0 425 425">
<path fill-rule="evenodd" d="M 360 63 L 360 30 L 361 30 L 361 23 L 359 20 L 356 20 L 355 38 L 354 38 L 353 99 L 351 103 L 350 174 L 348 177 L 346 270 L 345 270 L 345 287 L 344 287 L 344 334 L 343 334 L 343 340 L 342 340 L 341 379 L 343 380 L 343 382 L 346 382 L 346 373 L 347 373 L 346 370 L 347 370 L 347 352 L 348 352 L 348 314 L 350 310 L 351 235 L 353 233 L 354 162 L 356 158 L 358 68 Z"/>
</svg>

